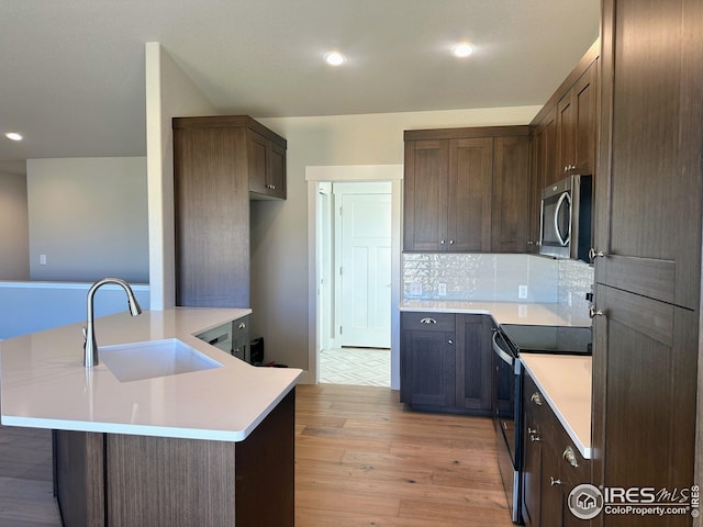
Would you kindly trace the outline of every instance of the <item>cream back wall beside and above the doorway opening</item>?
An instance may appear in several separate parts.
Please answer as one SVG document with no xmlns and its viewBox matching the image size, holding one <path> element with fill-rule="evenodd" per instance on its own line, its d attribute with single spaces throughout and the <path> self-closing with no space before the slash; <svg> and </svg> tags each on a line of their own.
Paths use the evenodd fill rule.
<svg viewBox="0 0 703 527">
<path fill-rule="evenodd" d="M 257 277 L 252 287 L 253 330 L 266 335 L 267 358 L 309 369 L 314 311 L 306 301 L 305 167 L 398 165 L 403 162 L 404 130 L 527 124 L 539 109 L 257 119 L 288 141 L 288 200 L 252 206 L 252 269 Z M 265 324 L 265 330 L 258 324 Z"/>
</svg>

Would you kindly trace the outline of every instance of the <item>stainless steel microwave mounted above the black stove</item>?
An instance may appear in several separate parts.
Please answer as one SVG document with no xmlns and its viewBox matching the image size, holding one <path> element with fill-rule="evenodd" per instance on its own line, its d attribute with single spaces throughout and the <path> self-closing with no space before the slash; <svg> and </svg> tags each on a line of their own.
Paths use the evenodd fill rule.
<svg viewBox="0 0 703 527">
<path fill-rule="evenodd" d="M 542 191 L 539 254 L 589 261 L 593 178 L 569 176 Z"/>
</svg>

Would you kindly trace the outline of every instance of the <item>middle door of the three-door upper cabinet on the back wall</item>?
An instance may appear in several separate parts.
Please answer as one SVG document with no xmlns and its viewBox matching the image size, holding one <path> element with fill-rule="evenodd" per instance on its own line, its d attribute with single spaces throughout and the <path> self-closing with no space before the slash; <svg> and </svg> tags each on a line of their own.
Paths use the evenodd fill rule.
<svg viewBox="0 0 703 527">
<path fill-rule="evenodd" d="M 448 183 L 446 250 L 490 251 L 492 137 L 449 142 Z"/>
</svg>

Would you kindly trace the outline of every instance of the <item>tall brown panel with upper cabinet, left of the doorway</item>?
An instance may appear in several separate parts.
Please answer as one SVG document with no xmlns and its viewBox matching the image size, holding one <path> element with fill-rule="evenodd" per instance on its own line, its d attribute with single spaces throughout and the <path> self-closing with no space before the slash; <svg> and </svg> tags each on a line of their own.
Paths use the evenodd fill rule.
<svg viewBox="0 0 703 527">
<path fill-rule="evenodd" d="M 286 197 L 286 139 L 246 115 L 172 126 L 176 305 L 249 307 L 249 199 Z"/>
</svg>

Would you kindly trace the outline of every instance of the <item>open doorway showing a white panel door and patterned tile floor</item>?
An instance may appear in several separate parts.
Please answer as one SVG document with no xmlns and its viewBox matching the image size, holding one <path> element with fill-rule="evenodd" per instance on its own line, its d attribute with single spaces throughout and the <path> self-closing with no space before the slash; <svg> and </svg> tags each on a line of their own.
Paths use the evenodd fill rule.
<svg viewBox="0 0 703 527">
<path fill-rule="evenodd" d="M 390 386 L 391 191 L 317 183 L 319 382 Z"/>
</svg>

